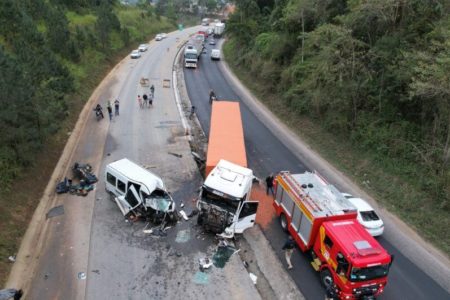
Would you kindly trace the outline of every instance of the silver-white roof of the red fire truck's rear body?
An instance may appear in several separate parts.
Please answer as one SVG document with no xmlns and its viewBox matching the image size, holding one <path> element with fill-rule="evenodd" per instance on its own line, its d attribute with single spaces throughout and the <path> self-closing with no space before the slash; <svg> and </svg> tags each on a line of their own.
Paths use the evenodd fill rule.
<svg viewBox="0 0 450 300">
<path fill-rule="evenodd" d="M 282 172 L 280 176 L 291 193 L 304 204 L 314 218 L 356 212 L 353 204 L 317 173 Z"/>
</svg>

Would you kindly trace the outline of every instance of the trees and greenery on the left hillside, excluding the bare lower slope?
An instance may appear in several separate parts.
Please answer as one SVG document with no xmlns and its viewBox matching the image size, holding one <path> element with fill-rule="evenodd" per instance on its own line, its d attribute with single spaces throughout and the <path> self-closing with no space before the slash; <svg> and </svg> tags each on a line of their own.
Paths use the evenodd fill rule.
<svg viewBox="0 0 450 300">
<path fill-rule="evenodd" d="M 73 106 L 69 95 L 96 65 L 157 30 L 175 28 L 175 20 L 161 18 L 169 8 L 167 2 L 128 8 L 112 0 L 0 1 L 2 191 L 58 131 Z"/>
</svg>

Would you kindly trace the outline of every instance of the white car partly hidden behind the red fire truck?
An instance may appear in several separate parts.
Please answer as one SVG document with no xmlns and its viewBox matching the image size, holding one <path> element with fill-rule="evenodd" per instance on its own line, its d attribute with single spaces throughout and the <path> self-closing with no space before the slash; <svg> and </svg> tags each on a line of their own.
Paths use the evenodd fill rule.
<svg viewBox="0 0 450 300">
<path fill-rule="evenodd" d="M 345 196 L 344 196 L 345 197 Z M 361 198 L 348 198 L 358 210 L 358 222 L 372 235 L 380 236 L 384 231 L 383 220 L 377 215 L 372 206 Z"/>
</svg>

